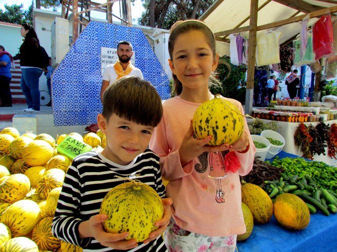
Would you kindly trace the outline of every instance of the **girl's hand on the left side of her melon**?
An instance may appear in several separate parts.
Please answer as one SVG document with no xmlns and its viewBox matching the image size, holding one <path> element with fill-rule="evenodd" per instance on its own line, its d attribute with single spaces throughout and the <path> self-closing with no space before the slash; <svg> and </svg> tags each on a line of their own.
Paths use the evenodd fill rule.
<svg viewBox="0 0 337 252">
<path fill-rule="evenodd" d="M 186 133 L 181 146 L 179 147 L 180 162 L 182 166 L 198 157 L 204 152 L 221 152 L 229 149 L 229 145 L 208 146 L 207 143 L 212 140 L 212 136 L 198 140 L 193 138 L 193 124 L 191 120 L 190 129 Z"/>
</svg>

